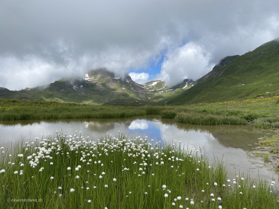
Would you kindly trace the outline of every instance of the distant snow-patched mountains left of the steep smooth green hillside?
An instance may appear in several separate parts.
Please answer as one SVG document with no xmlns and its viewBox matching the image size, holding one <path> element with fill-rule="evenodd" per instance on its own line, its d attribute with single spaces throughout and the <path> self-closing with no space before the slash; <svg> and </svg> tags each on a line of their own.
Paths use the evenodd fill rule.
<svg viewBox="0 0 279 209">
<path fill-rule="evenodd" d="M 186 86 L 186 82 L 189 86 Z M 25 88 L 21 91 L 0 88 L 0 98 L 142 106 L 161 100 L 165 104 L 165 98 L 173 97 L 193 84 L 195 82 L 188 79 L 175 88 L 169 88 L 162 81 L 137 84 L 129 75 L 121 78 L 114 72 L 99 69 L 90 71 L 83 78 L 60 79 L 47 86 Z"/>
</svg>

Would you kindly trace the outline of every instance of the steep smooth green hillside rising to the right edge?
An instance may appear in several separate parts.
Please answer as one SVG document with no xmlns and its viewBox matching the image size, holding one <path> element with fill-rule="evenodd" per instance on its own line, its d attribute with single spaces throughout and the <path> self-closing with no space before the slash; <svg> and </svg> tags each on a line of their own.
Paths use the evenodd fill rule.
<svg viewBox="0 0 279 209">
<path fill-rule="evenodd" d="M 279 38 L 242 56 L 227 56 L 211 72 L 167 104 L 223 102 L 266 97 L 279 90 Z"/>
</svg>

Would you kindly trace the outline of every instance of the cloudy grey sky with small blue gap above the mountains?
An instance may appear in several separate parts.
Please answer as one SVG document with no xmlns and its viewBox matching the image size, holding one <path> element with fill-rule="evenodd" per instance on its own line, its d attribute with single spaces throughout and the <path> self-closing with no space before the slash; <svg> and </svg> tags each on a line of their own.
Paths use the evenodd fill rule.
<svg viewBox="0 0 279 209">
<path fill-rule="evenodd" d="M 278 0 L 1 1 L 0 86 L 97 68 L 172 86 L 279 37 Z"/>
</svg>

